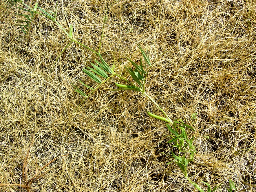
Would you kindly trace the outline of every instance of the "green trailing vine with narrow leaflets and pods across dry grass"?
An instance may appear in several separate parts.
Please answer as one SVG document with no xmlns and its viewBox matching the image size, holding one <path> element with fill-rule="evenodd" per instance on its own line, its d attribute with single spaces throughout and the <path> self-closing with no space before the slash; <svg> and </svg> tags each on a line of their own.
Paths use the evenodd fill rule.
<svg viewBox="0 0 256 192">
<path fill-rule="evenodd" d="M 136 92 L 140 92 L 141 94 L 146 96 L 149 100 L 151 100 L 151 102 L 154 103 L 154 105 L 156 107 L 158 107 L 158 109 L 164 114 L 164 117 L 158 116 L 149 111 L 147 111 L 147 114 L 153 118 L 167 122 L 166 126 L 172 134 L 170 136 L 171 140 L 169 140 L 168 143 L 170 143 L 173 148 L 177 148 L 177 150 L 178 150 L 178 154 L 175 154 L 173 151 L 170 151 L 170 153 L 171 153 L 170 155 L 173 157 L 174 163 L 180 167 L 180 169 L 181 169 L 182 173 L 184 174 L 184 176 L 186 177 L 186 179 L 193 186 L 195 186 L 196 189 L 198 189 L 200 192 L 203 192 L 203 189 L 201 189 L 200 186 L 198 186 L 198 184 L 191 181 L 187 174 L 188 164 L 189 164 L 189 162 L 193 161 L 193 158 L 194 158 L 195 147 L 193 146 L 193 137 L 190 139 L 188 138 L 188 135 L 186 133 L 186 128 L 189 128 L 192 131 L 195 131 L 195 130 L 191 126 L 184 124 L 184 122 L 181 119 L 172 121 L 171 118 L 169 118 L 169 116 L 165 113 L 165 111 L 145 91 L 145 83 L 146 83 L 146 79 L 149 74 L 149 71 L 150 71 L 151 67 L 156 63 L 158 58 L 160 58 L 160 56 L 162 56 L 162 55 L 160 55 L 156 59 L 155 62 L 151 63 L 151 61 L 149 59 L 148 51 L 145 52 L 142 49 L 142 47 L 140 47 L 140 45 L 139 45 L 139 49 L 140 49 L 140 52 L 144 59 L 144 62 L 142 62 L 142 58 L 140 58 L 140 63 L 137 64 L 134 61 L 132 61 L 130 58 L 127 58 L 127 60 L 132 64 L 132 67 L 125 67 L 127 72 L 130 74 L 132 79 L 135 81 L 135 84 L 134 84 L 131 81 L 129 81 L 128 79 L 124 78 L 122 75 L 115 73 L 115 65 L 113 64 L 112 67 L 110 67 L 100 54 L 100 47 L 101 47 L 101 41 L 103 38 L 104 26 L 105 26 L 105 22 L 107 19 L 106 16 L 104 18 L 102 34 L 101 34 L 101 38 L 100 38 L 100 42 L 99 42 L 99 50 L 98 50 L 98 52 L 96 52 L 96 51 L 92 50 L 91 48 L 87 47 L 86 45 L 84 45 L 83 43 L 75 40 L 75 38 L 73 36 L 73 26 L 71 24 L 69 25 L 69 31 L 66 31 L 61 26 L 61 24 L 57 21 L 57 18 L 56 18 L 57 2 L 56 2 L 55 12 L 50 12 L 50 13 L 43 10 L 42 8 L 40 8 L 37 3 L 35 3 L 33 8 L 30 8 L 22 0 L 21 1 L 8 0 L 8 2 L 10 3 L 9 5 L 11 5 L 11 6 L 13 6 L 14 4 L 16 5 L 16 3 L 21 3 L 25 7 L 25 8 L 21 8 L 20 6 L 18 6 L 18 8 L 20 10 L 27 12 L 27 14 L 18 14 L 25 18 L 24 20 L 19 21 L 19 22 L 23 23 L 23 25 L 20 25 L 20 26 L 22 27 L 22 31 L 25 34 L 28 34 L 29 29 L 32 25 L 32 20 L 33 20 L 34 16 L 36 14 L 39 14 L 44 17 L 47 17 L 48 19 L 50 19 L 54 23 L 56 23 L 56 25 L 59 28 L 61 28 L 63 30 L 63 32 L 69 38 L 70 42 L 64 47 L 64 49 L 62 50 L 60 55 L 64 52 L 65 49 L 67 49 L 67 47 L 70 46 L 71 43 L 74 42 L 74 43 L 81 45 L 82 47 L 85 47 L 86 49 L 90 50 L 91 52 L 93 52 L 94 54 L 96 54 L 98 56 L 98 60 L 95 60 L 94 61 L 95 63 L 91 63 L 91 67 L 83 68 L 83 72 L 85 72 L 85 74 L 87 74 L 87 76 L 89 78 L 91 78 L 98 85 L 95 88 L 93 88 L 93 87 L 86 85 L 81 80 L 79 80 L 79 82 L 82 83 L 85 87 L 87 87 L 90 91 L 84 92 L 81 89 L 79 89 L 76 85 L 71 83 L 74 86 L 74 88 L 75 88 L 74 90 L 76 92 L 78 92 L 79 94 L 81 94 L 82 96 L 85 96 L 87 98 L 93 92 L 95 92 L 98 89 L 98 87 L 102 86 L 103 83 L 105 83 L 109 78 L 113 78 L 114 76 L 117 76 L 121 80 L 125 81 L 127 84 L 120 84 L 120 83 L 115 82 L 115 85 L 116 85 L 116 87 L 118 87 L 118 89 L 113 89 L 113 91 L 133 90 Z M 59 58 L 59 56 L 57 57 L 57 59 Z M 197 118 L 197 113 L 192 114 L 192 119 L 195 120 L 196 118 Z M 170 163 L 171 162 L 168 162 L 167 164 L 170 164 Z M 34 179 L 32 179 L 32 181 L 33 180 Z M 221 185 L 221 184 L 219 184 L 218 186 L 215 186 L 213 190 L 211 190 L 211 186 L 208 183 L 206 183 L 206 182 L 203 182 L 203 183 L 208 186 L 208 192 L 215 191 Z M 31 182 L 29 182 L 29 184 L 31 184 Z M 10 185 L 10 184 L 8 184 L 8 185 Z M 13 184 L 13 185 L 18 185 L 18 184 Z M 21 185 L 21 186 L 27 188 L 29 191 L 28 185 L 27 186 Z M 230 181 L 230 190 L 232 191 L 233 189 L 235 189 L 235 186 Z"/>
</svg>

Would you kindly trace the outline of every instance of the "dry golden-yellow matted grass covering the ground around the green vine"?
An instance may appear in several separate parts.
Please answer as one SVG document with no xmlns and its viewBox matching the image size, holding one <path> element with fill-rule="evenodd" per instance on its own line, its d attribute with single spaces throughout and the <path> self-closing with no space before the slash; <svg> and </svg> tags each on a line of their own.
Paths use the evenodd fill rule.
<svg viewBox="0 0 256 192">
<path fill-rule="evenodd" d="M 55 4 L 39 6 L 52 11 Z M 68 43 L 61 29 L 36 16 L 24 38 L 17 15 L 0 10 L 0 184 L 23 183 L 35 134 L 28 178 L 69 156 L 46 167 L 31 191 L 195 191 L 178 166 L 166 165 L 169 132 L 147 116 L 161 115 L 148 99 L 112 92 L 112 79 L 82 102 L 70 83 L 94 85 L 81 69 L 96 56 L 73 43 L 56 61 Z M 125 57 L 140 59 L 138 45 L 152 61 L 168 51 L 152 68 L 147 92 L 173 119 L 192 125 L 198 113 L 190 179 L 204 190 L 201 181 L 224 182 L 218 190 L 227 191 L 232 178 L 237 191 L 256 191 L 255 1 L 62 0 L 57 19 L 65 29 L 72 23 L 74 38 L 97 51 L 105 10 L 102 56 L 124 76 Z"/>
</svg>

